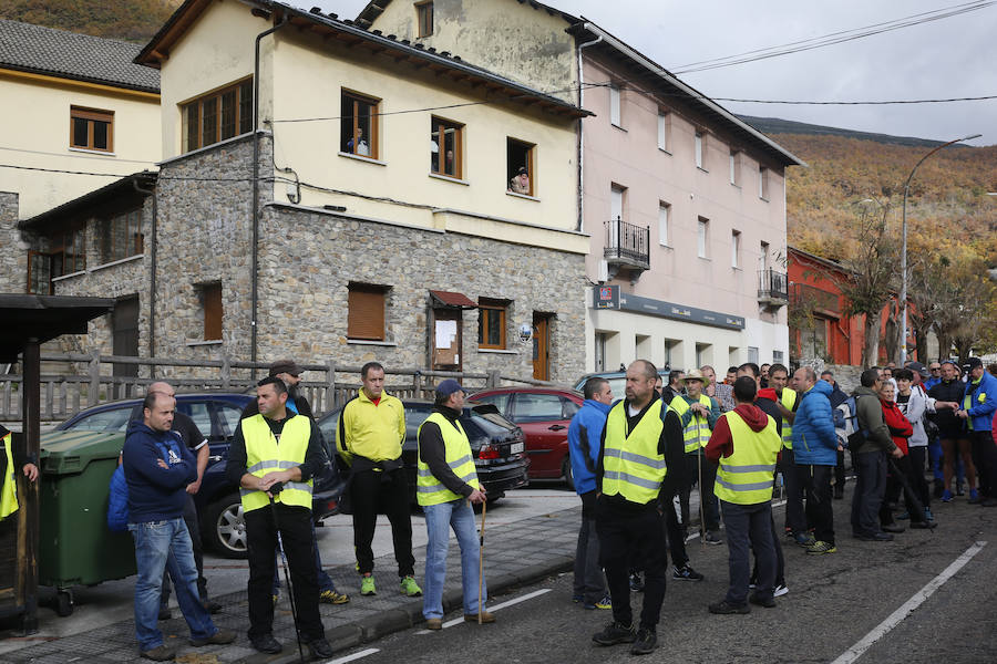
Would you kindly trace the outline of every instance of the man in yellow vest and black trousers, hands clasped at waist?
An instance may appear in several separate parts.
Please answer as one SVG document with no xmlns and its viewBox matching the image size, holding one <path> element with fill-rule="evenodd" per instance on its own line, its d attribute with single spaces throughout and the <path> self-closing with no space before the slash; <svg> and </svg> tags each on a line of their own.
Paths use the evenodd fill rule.
<svg viewBox="0 0 997 664">
<path fill-rule="evenodd" d="M 287 408 L 287 386 L 268 376 L 257 383 L 259 413 L 241 419 L 228 448 L 225 473 L 238 483 L 249 549 L 249 643 L 279 653 L 274 639 L 271 588 L 278 531 L 290 567 L 297 629 L 314 657 L 331 657 L 319 616 L 311 528 L 311 477 L 326 463 L 315 422 Z"/>
</svg>

